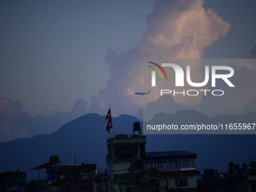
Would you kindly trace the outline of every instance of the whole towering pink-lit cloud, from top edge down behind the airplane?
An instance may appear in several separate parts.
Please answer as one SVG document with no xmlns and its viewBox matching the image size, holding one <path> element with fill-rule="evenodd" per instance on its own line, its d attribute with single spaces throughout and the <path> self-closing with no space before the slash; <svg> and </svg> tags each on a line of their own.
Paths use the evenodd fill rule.
<svg viewBox="0 0 256 192">
<path fill-rule="evenodd" d="M 134 96 L 143 90 L 142 66 L 160 59 L 199 59 L 203 50 L 230 32 L 231 24 L 218 16 L 214 9 L 203 8 L 203 0 L 159 0 L 146 18 L 148 29 L 135 47 L 128 50 L 108 48 L 105 63 L 110 79 L 105 90 L 99 90 L 105 111 L 111 105 L 116 114 L 133 114 L 142 108 L 143 99 Z M 183 66 L 184 67 L 184 66 Z M 194 81 L 202 80 L 200 64 L 193 66 Z M 148 96 L 151 101 L 157 97 Z M 200 97 L 175 97 L 181 105 L 197 105 Z M 93 105 L 95 102 L 93 102 Z"/>
</svg>

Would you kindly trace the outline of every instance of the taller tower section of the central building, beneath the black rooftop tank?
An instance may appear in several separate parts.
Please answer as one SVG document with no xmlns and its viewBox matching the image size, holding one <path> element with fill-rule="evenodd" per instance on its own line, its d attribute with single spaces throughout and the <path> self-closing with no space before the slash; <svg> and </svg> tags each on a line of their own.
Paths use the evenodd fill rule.
<svg viewBox="0 0 256 192">
<path fill-rule="evenodd" d="M 141 165 L 143 169 L 143 160 L 145 159 L 146 137 L 141 135 L 120 134 L 107 140 L 108 155 L 108 186 L 109 190 L 126 191 L 126 187 L 134 185 L 133 178 L 125 178 L 133 172 L 135 166 Z"/>
</svg>

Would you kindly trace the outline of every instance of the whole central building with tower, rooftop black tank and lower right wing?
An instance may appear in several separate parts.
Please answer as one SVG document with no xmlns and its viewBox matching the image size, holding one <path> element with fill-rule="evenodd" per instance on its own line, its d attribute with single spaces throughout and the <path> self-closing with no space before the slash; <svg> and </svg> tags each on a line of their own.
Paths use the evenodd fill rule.
<svg viewBox="0 0 256 192">
<path fill-rule="evenodd" d="M 108 191 L 197 191 L 197 154 L 145 152 L 145 144 L 138 123 L 133 125 L 133 135 L 107 140 Z"/>
</svg>

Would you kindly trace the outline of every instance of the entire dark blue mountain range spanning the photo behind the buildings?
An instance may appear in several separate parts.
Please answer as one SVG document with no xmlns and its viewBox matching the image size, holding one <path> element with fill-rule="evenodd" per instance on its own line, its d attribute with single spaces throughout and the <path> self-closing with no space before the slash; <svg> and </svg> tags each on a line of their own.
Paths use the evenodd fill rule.
<svg viewBox="0 0 256 192">
<path fill-rule="evenodd" d="M 236 123 L 252 122 L 256 112 L 250 114 L 225 114 L 207 117 L 194 110 L 177 111 L 175 114 L 156 114 L 165 116 L 172 122 L 212 122 Z M 120 115 L 112 117 L 113 129 L 109 134 L 133 133 L 133 123 L 141 122 L 137 117 Z M 141 122 L 142 123 L 142 122 Z M 30 169 L 49 161 L 50 155 L 59 155 L 62 165 L 81 165 L 96 163 L 99 169 L 105 170 L 107 154 L 106 132 L 107 120 L 99 114 L 85 114 L 69 121 L 48 135 L 35 136 L 29 139 L 15 139 L 0 143 L 0 172 L 27 172 L 28 180 L 37 178 L 37 172 Z M 256 129 L 256 128 L 255 128 Z M 146 151 L 184 150 L 197 153 L 197 168 L 226 168 L 229 161 L 248 163 L 249 157 L 255 157 L 255 135 L 146 135 Z M 44 171 L 42 171 L 44 172 Z M 35 177 L 33 177 L 35 176 Z"/>
</svg>

